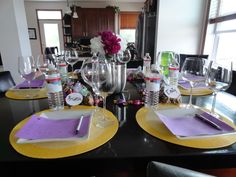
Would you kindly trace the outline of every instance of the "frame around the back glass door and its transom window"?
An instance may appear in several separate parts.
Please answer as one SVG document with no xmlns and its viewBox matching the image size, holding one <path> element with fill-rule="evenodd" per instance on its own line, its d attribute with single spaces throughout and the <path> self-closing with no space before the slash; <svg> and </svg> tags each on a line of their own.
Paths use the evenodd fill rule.
<svg viewBox="0 0 236 177">
<path fill-rule="evenodd" d="M 41 54 L 44 54 L 43 51 L 43 47 L 42 47 L 42 39 L 41 39 L 41 31 L 40 31 L 40 24 L 39 24 L 39 18 L 38 18 L 38 11 L 60 11 L 61 12 L 61 26 L 62 26 L 62 40 L 63 40 L 63 47 L 64 47 L 64 36 L 63 36 L 63 13 L 61 9 L 36 9 L 36 18 L 37 18 L 37 25 L 38 25 L 38 31 L 39 31 L 39 43 L 40 43 L 40 50 L 41 50 Z M 50 21 L 53 20 L 55 21 L 55 19 L 45 19 L 45 21 Z M 62 49 L 61 49 L 62 50 Z"/>
</svg>

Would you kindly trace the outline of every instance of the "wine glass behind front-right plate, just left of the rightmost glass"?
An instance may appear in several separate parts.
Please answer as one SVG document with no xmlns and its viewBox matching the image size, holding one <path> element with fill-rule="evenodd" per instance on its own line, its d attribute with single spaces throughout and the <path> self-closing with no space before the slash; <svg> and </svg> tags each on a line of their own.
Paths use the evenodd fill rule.
<svg viewBox="0 0 236 177">
<path fill-rule="evenodd" d="M 206 61 L 204 58 L 189 57 L 186 58 L 181 68 L 181 76 L 184 81 L 190 84 L 190 97 L 188 108 L 192 107 L 193 88 L 200 82 L 205 82 L 207 72 Z"/>
</svg>

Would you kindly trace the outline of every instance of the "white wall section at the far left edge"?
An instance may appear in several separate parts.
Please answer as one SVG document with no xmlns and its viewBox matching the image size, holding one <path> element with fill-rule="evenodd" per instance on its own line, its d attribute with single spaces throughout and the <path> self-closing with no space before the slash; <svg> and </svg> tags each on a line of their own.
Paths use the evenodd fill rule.
<svg viewBox="0 0 236 177">
<path fill-rule="evenodd" d="M 22 81 L 18 73 L 18 56 L 31 55 L 24 1 L 1 0 L 0 24 L 3 69 L 10 71 L 18 83 Z"/>
</svg>

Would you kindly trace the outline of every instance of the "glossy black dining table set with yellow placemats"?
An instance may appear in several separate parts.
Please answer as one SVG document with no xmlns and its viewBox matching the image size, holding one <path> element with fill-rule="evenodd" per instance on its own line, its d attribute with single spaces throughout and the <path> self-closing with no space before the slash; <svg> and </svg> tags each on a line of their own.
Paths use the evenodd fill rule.
<svg viewBox="0 0 236 177">
<path fill-rule="evenodd" d="M 136 174 L 135 176 L 143 176 L 147 163 L 150 161 L 190 169 L 236 167 L 236 143 L 209 149 L 174 144 L 149 134 L 139 126 L 136 114 L 144 107 L 143 104 L 116 103 L 119 99 L 141 100 L 141 97 L 135 84 L 127 82 L 122 93 L 107 97 L 107 109 L 114 114 L 119 123 L 116 134 L 93 150 L 55 159 L 24 156 L 18 153 L 9 142 L 10 133 L 19 122 L 49 108 L 47 98 L 31 100 L 0 98 L 0 169 L 19 176 L 28 172 L 43 175 L 47 173 L 47 170 L 52 174 L 75 172 L 84 176 L 111 175 L 128 171 Z M 183 95 L 182 103 L 188 103 L 188 99 L 189 96 Z M 193 104 L 209 110 L 212 99 L 212 94 L 193 96 Z M 235 96 L 220 92 L 217 95 L 215 111 L 235 123 L 235 105 Z"/>
</svg>

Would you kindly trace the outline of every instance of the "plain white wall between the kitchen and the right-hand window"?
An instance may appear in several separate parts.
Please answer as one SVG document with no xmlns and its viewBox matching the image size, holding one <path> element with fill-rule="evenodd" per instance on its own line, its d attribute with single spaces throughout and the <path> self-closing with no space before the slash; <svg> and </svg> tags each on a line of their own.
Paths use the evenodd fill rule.
<svg viewBox="0 0 236 177">
<path fill-rule="evenodd" d="M 204 24 L 205 0 L 160 0 L 157 51 L 197 54 Z"/>
</svg>

